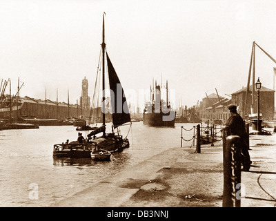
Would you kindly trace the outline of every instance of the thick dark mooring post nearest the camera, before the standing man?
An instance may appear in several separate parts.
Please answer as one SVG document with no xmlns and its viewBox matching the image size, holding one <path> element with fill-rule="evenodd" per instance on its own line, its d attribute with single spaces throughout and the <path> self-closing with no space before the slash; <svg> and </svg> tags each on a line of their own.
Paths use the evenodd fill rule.
<svg viewBox="0 0 276 221">
<path fill-rule="evenodd" d="M 241 197 L 238 194 L 241 187 L 240 140 L 241 137 L 239 136 L 230 135 L 226 137 L 224 148 L 223 207 L 241 206 Z"/>
</svg>

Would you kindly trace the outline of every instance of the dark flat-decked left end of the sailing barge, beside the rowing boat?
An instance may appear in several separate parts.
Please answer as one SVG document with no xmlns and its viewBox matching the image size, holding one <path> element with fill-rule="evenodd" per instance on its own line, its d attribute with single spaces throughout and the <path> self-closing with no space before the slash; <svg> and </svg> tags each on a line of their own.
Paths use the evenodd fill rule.
<svg viewBox="0 0 276 221">
<path fill-rule="evenodd" d="M 92 144 L 79 144 L 77 142 L 55 144 L 52 155 L 53 157 L 91 158 L 94 147 Z"/>
</svg>

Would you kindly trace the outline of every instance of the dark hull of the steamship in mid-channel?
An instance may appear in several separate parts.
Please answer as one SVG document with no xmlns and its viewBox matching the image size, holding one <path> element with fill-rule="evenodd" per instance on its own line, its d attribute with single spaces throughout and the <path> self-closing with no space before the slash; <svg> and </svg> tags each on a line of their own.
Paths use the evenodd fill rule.
<svg viewBox="0 0 276 221">
<path fill-rule="evenodd" d="M 166 118 L 171 120 L 166 120 Z M 175 111 L 170 111 L 169 113 L 144 113 L 143 114 L 143 124 L 148 126 L 175 126 Z"/>
</svg>

